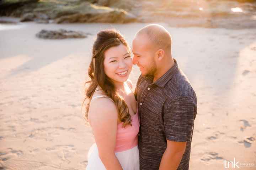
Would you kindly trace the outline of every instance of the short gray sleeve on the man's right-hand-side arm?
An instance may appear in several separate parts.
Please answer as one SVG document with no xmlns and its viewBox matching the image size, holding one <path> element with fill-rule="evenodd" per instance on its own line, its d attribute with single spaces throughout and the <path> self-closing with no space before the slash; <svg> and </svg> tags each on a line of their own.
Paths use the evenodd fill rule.
<svg viewBox="0 0 256 170">
<path fill-rule="evenodd" d="M 194 126 L 194 102 L 182 97 L 167 104 L 164 113 L 166 139 L 176 142 L 191 140 Z"/>
</svg>

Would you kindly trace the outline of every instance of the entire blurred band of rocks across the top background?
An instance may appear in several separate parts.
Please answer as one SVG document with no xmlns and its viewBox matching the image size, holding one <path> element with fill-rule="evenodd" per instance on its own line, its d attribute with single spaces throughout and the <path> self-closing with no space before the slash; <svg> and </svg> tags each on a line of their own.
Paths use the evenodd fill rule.
<svg viewBox="0 0 256 170">
<path fill-rule="evenodd" d="M 0 15 L 37 23 L 166 22 L 183 27 L 203 22 L 218 27 L 219 21 L 251 24 L 255 11 L 256 0 L 0 0 Z"/>
</svg>

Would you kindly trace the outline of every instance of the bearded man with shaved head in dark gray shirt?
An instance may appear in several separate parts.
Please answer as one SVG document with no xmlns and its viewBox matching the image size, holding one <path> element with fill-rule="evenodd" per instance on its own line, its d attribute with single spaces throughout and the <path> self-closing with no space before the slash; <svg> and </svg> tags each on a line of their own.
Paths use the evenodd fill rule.
<svg viewBox="0 0 256 170">
<path fill-rule="evenodd" d="M 188 170 L 197 97 L 172 58 L 170 33 L 158 24 L 140 29 L 133 40 L 133 64 L 141 75 L 140 170 Z"/>
</svg>

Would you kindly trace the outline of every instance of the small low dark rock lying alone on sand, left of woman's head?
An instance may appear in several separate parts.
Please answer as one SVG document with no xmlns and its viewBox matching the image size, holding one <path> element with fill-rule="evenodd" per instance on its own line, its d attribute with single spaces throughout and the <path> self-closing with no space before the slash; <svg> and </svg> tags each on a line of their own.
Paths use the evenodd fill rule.
<svg viewBox="0 0 256 170">
<path fill-rule="evenodd" d="M 43 29 L 36 34 L 38 38 L 43 38 L 43 39 L 86 38 L 87 35 L 84 32 L 76 32 L 76 31 L 64 30 L 64 29 L 59 29 L 56 31 Z"/>
</svg>

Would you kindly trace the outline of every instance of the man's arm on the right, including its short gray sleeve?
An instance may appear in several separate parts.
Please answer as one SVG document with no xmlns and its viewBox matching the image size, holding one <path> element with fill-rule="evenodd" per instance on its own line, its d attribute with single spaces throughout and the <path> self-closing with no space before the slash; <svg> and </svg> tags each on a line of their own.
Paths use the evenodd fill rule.
<svg viewBox="0 0 256 170">
<path fill-rule="evenodd" d="M 181 97 L 172 101 L 165 109 L 164 126 L 167 147 L 162 156 L 159 170 L 176 170 L 191 140 L 194 122 L 194 103 Z"/>
</svg>

